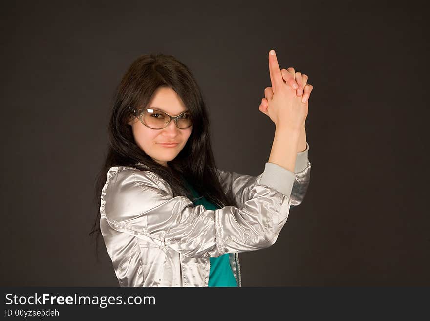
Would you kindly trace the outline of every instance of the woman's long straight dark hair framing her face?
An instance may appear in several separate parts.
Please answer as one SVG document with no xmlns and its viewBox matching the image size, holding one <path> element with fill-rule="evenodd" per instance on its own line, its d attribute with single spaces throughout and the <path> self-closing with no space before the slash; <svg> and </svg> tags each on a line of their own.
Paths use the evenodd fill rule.
<svg viewBox="0 0 430 321">
<path fill-rule="evenodd" d="M 167 167 L 155 162 L 139 148 L 128 124 L 132 109 L 147 106 L 159 87 L 173 89 L 193 118 L 193 129 L 186 145 L 172 161 L 167 162 Z M 142 55 L 130 64 L 114 96 L 108 136 L 107 156 L 95 183 L 97 214 L 89 233 L 89 235 L 95 233 L 96 256 L 101 234 L 100 196 L 108 171 L 113 166 L 130 166 L 152 171 L 170 185 L 173 197 L 184 195 L 192 199 L 191 191 L 184 186 L 181 178 L 186 177 L 187 182 L 191 183 L 201 196 L 205 196 L 217 206 L 237 206 L 234 198 L 223 192 L 216 172 L 209 117 L 200 88 L 188 67 L 172 55 L 161 53 Z"/>
</svg>

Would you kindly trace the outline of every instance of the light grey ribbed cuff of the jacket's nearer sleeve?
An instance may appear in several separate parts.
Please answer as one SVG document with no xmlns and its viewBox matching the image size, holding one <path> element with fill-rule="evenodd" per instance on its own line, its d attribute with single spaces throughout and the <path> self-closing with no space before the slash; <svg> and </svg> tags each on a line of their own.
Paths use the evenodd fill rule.
<svg viewBox="0 0 430 321">
<path fill-rule="evenodd" d="M 296 175 L 293 172 L 278 164 L 267 162 L 260 177 L 260 184 L 272 187 L 290 197 L 295 179 Z"/>
</svg>

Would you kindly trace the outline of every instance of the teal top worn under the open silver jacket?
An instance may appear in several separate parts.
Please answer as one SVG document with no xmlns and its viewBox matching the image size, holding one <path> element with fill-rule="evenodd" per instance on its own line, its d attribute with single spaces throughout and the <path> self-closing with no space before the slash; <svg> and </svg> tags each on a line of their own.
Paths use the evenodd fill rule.
<svg viewBox="0 0 430 321">
<path fill-rule="evenodd" d="M 185 183 L 190 187 L 195 197 L 191 200 L 194 206 L 203 205 L 207 210 L 219 209 L 214 203 L 209 202 L 206 197 L 200 196 L 190 183 Z M 211 270 L 209 271 L 208 286 L 237 286 L 236 278 L 230 266 L 229 255 L 229 253 L 225 253 L 219 257 L 209 257 Z"/>
</svg>

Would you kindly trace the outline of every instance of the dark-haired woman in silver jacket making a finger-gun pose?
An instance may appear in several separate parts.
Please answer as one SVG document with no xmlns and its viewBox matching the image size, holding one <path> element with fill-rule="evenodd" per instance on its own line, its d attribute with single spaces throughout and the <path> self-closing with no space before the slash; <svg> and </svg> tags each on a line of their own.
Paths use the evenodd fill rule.
<svg viewBox="0 0 430 321">
<path fill-rule="evenodd" d="M 276 124 L 275 139 L 254 177 L 216 168 L 208 112 L 184 64 L 158 54 L 129 66 L 110 118 L 93 230 L 120 286 L 241 286 L 237 253 L 275 243 L 310 179 L 312 86 L 293 68 L 281 71 L 275 54 L 269 69 L 259 109 Z"/>
</svg>

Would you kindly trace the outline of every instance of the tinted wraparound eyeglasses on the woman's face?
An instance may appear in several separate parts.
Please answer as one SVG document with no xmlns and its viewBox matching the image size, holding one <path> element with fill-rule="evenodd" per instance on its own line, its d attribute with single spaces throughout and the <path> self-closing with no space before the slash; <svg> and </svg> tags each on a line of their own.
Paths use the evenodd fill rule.
<svg viewBox="0 0 430 321">
<path fill-rule="evenodd" d="M 172 119 L 179 129 L 186 129 L 193 125 L 193 119 L 188 110 L 175 117 L 157 109 L 144 109 L 140 114 L 137 109 L 133 109 L 132 111 L 143 125 L 151 129 L 166 128 Z"/>
</svg>

